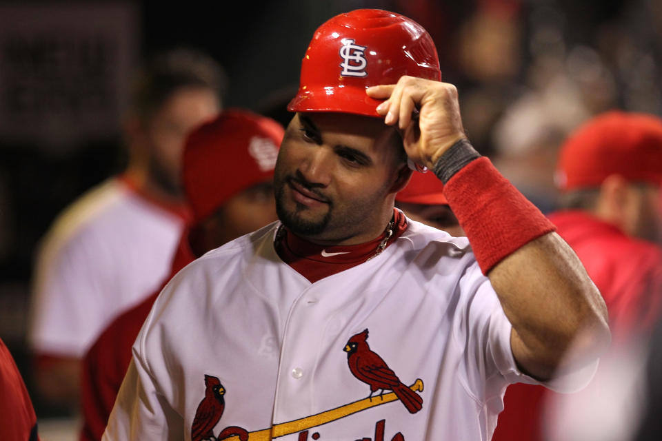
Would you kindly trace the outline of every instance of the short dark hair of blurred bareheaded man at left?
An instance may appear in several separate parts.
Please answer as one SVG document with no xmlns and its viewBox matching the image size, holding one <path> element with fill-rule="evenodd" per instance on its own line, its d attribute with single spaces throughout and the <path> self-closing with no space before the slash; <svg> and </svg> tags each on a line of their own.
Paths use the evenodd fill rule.
<svg viewBox="0 0 662 441">
<path fill-rule="evenodd" d="M 221 65 L 203 52 L 183 48 L 159 52 L 133 78 L 130 112 L 150 119 L 174 92 L 185 87 L 207 88 L 221 99 L 225 83 Z"/>
</svg>

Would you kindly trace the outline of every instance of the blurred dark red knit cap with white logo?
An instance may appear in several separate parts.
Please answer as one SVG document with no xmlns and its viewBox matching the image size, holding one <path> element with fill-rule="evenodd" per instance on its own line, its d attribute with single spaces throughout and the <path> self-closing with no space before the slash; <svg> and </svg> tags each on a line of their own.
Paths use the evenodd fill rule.
<svg viewBox="0 0 662 441">
<path fill-rule="evenodd" d="M 244 189 L 273 178 L 283 127 L 264 116 L 231 109 L 189 134 L 183 186 L 199 222 Z"/>
</svg>

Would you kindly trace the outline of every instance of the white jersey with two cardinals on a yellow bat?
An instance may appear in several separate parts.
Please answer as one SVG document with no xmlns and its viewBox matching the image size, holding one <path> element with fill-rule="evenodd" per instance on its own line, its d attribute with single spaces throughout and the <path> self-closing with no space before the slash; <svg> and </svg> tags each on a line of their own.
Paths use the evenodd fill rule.
<svg viewBox="0 0 662 441">
<path fill-rule="evenodd" d="M 376 258 L 316 283 L 275 252 L 278 224 L 190 264 L 141 329 L 103 439 L 490 439 L 505 387 L 534 380 L 466 238 L 408 223 Z M 392 390 L 369 398 L 348 352 L 366 334 L 378 357 L 363 368 L 388 365 L 372 373 L 397 376 L 419 411 Z"/>
</svg>

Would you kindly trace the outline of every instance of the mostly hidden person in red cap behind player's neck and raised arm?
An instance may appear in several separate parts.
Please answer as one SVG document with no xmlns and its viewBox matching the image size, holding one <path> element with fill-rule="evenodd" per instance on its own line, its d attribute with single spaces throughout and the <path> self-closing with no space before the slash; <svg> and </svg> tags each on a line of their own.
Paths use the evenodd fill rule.
<svg viewBox="0 0 662 441">
<path fill-rule="evenodd" d="M 443 229 L 451 236 L 466 236 L 443 196 L 443 183 L 432 172 L 414 172 L 407 186 L 395 195 L 395 206 L 412 220 Z"/>
</svg>

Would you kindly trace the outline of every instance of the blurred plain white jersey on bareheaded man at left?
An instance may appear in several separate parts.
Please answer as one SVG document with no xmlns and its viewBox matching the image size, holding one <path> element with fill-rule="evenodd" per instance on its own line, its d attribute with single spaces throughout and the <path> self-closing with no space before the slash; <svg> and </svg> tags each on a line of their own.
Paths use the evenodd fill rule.
<svg viewBox="0 0 662 441">
<path fill-rule="evenodd" d="M 117 314 L 168 276 L 183 218 L 112 178 L 68 207 L 35 267 L 30 342 L 38 353 L 82 357 Z"/>
</svg>

